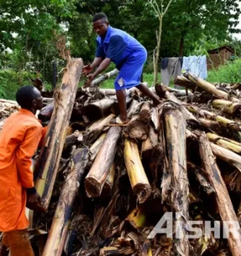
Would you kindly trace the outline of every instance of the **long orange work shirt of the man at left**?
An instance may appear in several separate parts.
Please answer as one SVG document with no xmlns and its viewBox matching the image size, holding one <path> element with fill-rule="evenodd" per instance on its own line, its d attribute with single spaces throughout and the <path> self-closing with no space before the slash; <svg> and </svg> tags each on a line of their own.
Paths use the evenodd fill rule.
<svg viewBox="0 0 241 256">
<path fill-rule="evenodd" d="M 47 127 L 28 110 L 7 118 L 0 133 L 0 231 L 23 230 L 26 218 L 26 189 L 34 187 L 31 157 Z"/>
</svg>

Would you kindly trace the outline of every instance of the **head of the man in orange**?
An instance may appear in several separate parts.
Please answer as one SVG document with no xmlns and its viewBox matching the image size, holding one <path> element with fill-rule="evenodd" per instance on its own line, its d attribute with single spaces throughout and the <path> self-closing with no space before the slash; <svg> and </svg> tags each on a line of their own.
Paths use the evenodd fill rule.
<svg viewBox="0 0 241 256">
<path fill-rule="evenodd" d="M 21 108 L 36 113 L 42 109 L 42 95 L 34 86 L 23 86 L 16 93 L 16 100 Z"/>
</svg>

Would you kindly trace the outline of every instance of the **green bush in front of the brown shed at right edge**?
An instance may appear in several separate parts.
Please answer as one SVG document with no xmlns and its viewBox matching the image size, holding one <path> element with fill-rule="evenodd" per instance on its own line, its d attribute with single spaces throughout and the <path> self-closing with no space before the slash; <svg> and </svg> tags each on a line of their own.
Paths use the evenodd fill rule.
<svg viewBox="0 0 241 256">
<path fill-rule="evenodd" d="M 241 59 L 228 62 L 226 65 L 208 72 L 207 80 L 210 83 L 240 83 L 241 82 Z"/>
</svg>

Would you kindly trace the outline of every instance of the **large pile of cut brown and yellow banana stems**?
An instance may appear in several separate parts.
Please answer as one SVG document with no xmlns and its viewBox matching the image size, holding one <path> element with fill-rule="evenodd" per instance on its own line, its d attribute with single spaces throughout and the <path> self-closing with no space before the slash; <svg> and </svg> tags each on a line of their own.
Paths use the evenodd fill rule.
<svg viewBox="0 0 241 256">
<path fill-rule="evenodd" d="M 77 89 L 82 64 L 72 65 L 39 115 L 49 129 L 34 176 L 47 212 L 30 227 L 47 235 L 32 239 L 35 255 L 240 256 L 240 87 L 185 73 L 183 90 L 151 88 L 157 106 L 131 89 L 129 124 L 110 127 L 115 91 Z M 204 222 L 218 223 L 220 238 Z"/>
</svg>

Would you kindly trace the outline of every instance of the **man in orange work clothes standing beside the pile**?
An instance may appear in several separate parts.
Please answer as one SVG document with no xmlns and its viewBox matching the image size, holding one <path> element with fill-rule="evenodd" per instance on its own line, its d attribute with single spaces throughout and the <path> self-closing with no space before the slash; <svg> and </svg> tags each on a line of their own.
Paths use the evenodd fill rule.
<svg viewBox="0 0 241 256">
<path fill-rule="evenodd" d="M 7 118 L 0 133 L 0 255 L 9 247 L 12 256 L 34 256 L 25 211 L 26 205 L 34 209 L 40 203 L 41 208 L 41 198 L 34 188 L 31 157 L 45 137 L 46 128 L 35 117 L 43 106 L 37 88 L 22 87 L 16 100 L 21 108 Z"/>
</svg>

